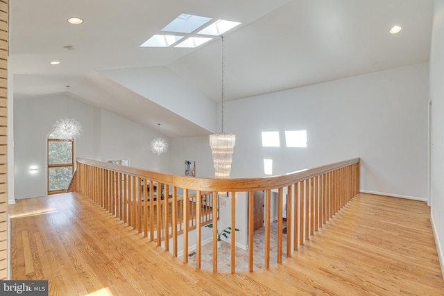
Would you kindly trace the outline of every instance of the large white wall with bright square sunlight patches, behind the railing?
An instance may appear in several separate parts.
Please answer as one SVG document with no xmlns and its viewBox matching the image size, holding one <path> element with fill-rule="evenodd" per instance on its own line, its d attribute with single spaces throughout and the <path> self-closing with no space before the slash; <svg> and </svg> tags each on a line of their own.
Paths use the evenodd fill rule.
<svg viewBox="0 0 444 296">
<path fill-rule="evenodd" d="M 428 64 L 380 71 L 225 103 L 236 134 L 232 177 L 273 175 L 361 157 L 361 189 L 427 198 Z M 262 131 L 280 148 L 262 148 Z M 285 130 L 307 130 L 307 148 L 285 148 Z"/>
</svg>

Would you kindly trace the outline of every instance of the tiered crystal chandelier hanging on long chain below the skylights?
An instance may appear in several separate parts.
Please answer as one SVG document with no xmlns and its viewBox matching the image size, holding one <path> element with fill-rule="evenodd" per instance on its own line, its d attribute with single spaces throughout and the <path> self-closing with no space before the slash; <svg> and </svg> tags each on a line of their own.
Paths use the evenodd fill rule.
<svg viewBox="0 0 444 296">
<path fill-rule="evenodd" d="M 230 177 L 232 154 L 236 143 L 235 134 L 225 134 L 223 132 L 223 35 L 222 40 L 222 132 L 220 134 L 210 134 L 210 147 L 213 154 L 214 175 L 216 178 Z M 219 193 L 219 197 L 226 197 L 226 193 Z"/>
</svg>

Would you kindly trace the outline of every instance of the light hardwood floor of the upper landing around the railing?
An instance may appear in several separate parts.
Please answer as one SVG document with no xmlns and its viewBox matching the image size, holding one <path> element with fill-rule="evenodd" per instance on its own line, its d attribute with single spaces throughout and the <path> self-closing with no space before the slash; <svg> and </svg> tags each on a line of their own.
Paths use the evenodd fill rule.
<svg viewBox="0 0 444 296">
<path fill-rule="evenodd" d="M 49 295 L 444 295 L 425 202 L 360 193 L 282 264 L 213 273 L 184 264 L 68 193 L 10 205 L 12 279 Z"/>
</svg>

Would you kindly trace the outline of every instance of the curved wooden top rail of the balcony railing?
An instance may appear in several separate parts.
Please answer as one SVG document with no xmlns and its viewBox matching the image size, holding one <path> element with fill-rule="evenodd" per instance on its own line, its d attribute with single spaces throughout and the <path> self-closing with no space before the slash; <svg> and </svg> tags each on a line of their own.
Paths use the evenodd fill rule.
<svg viewBox="0 0 444 296">
<path fill-rule="evenodd" d="M 316 168 L 307 168 L 300 171 L 287 173 L 285 175 L 276 175 L 271 177 L 216 179 L 173 175 L 169 173 L 149 171 L 144 168 L 135 168 L 133 166 L 109 164 L 92 159 L 77 159 L 77 162 L 81 164 L 88 164 L 118 173 L 135 175 L 137 177 L 146 178 L 147 180 L 153 180 L 154 182 L 169 184 L 184 189 L 200 191 L 259 191 L 282 188 L 284 186 L 290 186 L 297 182 L 307 180 L 316 175 L 322 175 L 345 166 L 356 164 L 360 161 L 361 159 L 357 157 L 345 160 L 343 162 L 335 162 L 334 164 L 327 164 L 325 166 L 318 166 Z"/>
</svg>

